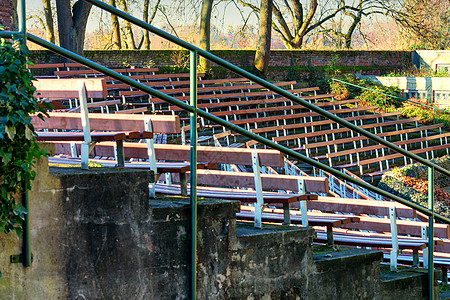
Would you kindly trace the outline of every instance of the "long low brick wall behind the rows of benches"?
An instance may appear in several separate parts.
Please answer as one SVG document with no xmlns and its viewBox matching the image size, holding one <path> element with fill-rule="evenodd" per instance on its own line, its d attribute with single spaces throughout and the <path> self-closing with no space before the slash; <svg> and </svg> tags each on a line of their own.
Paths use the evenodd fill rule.
<svg viewBox="0 0 450 300">
<path fill-rule="evenodd" d="M 212 53 L 247 70 L 252 69 L 255 56 L 254 50 L 217 50 Z M 161 72 L 179 72 L 180 70 L 174 66 L 183 66 L 184 63 L 187 65 L 189 62 L 189 52 L 172 50 L 86 50 L 84 56 L 107 67 L 146 66 L 150 63 L 160 68 Z M 30 60 L 34 63 L 62 62 L 62 58 L 58 55 L 42 50 L 31 51 Z M 309 81 L 308 78 L 314 72 L 332 72 L 339 69 L 343 73 L 382 75 L 409 66 L 411 66 L 410 51 L 273 50 L 269 79 L 286 79 L 291 76 L 293 69 L 295 69 L 294 78 L 289 79 Z M 224 68 L 214 65 L 213 74 L 215 77 L 232 76 Z"/>
</svg>

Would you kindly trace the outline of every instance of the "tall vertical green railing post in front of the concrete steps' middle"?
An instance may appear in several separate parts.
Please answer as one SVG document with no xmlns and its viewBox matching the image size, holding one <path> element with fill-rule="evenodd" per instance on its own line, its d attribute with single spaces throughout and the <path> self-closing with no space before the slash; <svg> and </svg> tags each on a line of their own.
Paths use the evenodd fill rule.
<svg viewBox="0 0 450 300">
<path fill-rule="evenodd" d="M 191 125 L 191 299 L 197 299 L 197 52 L 191 51 L 190 115 Z"/>
</svg>

